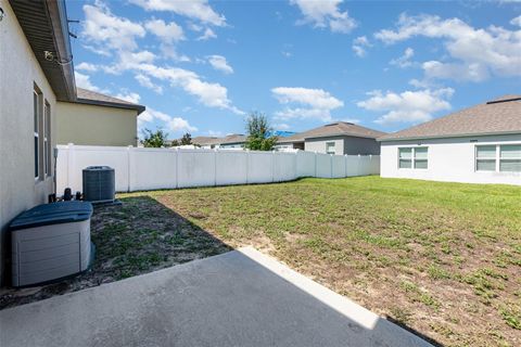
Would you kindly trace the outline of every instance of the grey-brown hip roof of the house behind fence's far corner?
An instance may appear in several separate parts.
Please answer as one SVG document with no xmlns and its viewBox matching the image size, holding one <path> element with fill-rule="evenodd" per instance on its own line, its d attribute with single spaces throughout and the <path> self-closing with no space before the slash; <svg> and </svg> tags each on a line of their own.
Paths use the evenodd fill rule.
<svg viewBox="0 0 521 347">
<path fill-rule="evenodd" d="M 298 132 L 294 136 L 279 139 L 279 143 L 304 142 L 306 139 L 328 138 L 328 137 L 356 137 L 376 139 L 385 134 L 385 132 L 372 130 L 366 127 L 357 126 L 347 121 L 336 121 L 323 127 L 315 128 L 308 131 Z"/>
</svg>

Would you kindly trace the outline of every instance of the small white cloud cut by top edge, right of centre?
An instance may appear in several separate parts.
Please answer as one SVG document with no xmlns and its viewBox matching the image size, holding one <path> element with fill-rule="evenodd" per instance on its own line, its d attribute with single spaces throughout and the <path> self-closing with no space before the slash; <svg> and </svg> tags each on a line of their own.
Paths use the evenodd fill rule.
<svg viewBox="0 0 521 347">
<path fill-rule="evenodd" d="M 314 27 L 329 27 L 332 33 L 347 34 L 356 27 L 356 21 L 347 11 L 341 12 L 339 5 L 343 0 L 290 0 L 301 9 L 304 18 L 297 24 L 312 24 Z"/>
</svg>

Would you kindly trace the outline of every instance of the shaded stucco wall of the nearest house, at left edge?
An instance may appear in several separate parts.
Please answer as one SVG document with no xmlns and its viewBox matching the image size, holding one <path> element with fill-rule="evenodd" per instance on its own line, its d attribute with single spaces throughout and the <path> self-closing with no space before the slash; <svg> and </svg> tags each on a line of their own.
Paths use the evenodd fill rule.
<svg viewBox="0 0 521 347">
<path fill-rule="evenodd" d="M 8 223 L 21 211 L 45 203 L 52 192 L 51 177 L 35 181 L 34 85 L 51 105 L 53 145 L 56 102 L 11 5 L 0 0 L 0 7 L 5 12 L 0 22 L 0 278 L 5 284 Z"/>
</svg>

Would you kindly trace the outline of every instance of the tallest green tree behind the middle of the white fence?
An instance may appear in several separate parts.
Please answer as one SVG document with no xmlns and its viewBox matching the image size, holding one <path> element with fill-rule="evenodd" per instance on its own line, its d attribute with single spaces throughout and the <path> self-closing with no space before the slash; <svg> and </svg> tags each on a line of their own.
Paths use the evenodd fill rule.
<svg viewBox="0 0 521 347">
<path fill-rule="evenodd" d="M 278 138 L 274 136 L 268 118 L 258 112 L 246 118 L 247 139 L 245 147 L 252 151 L 271 151 Z"/>
</svg>

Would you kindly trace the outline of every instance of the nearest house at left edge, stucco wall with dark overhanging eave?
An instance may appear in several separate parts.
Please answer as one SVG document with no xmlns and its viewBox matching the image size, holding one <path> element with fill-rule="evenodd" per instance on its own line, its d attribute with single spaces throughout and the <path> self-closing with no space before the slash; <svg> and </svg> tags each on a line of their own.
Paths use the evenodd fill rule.
<svg viewBox="0 0 521 347">
<path fill-rule="evenodd" d="M 0 0 L 0 9 L 4 14 L 0 21 L 0 285 L 3 285 L 9 252 L 7 226 L 20 213 L 46 203 L 54 191 L 53 147 L 61 126 L 56 111 L 65 103 L 85 104 L 85 99 L 77 98 L 65 1 Z M 104 113 L 105 108 L 107 105 L 100 106 L 99 112 Z M 60 119 L 62 116 L 66 112 Z M 135 116 L 130 118 L 136 121 Z M 78 143 L 74 139 L 81 137 L 86 127 L 73 131 L 72 142 Z"/>
</svg>

